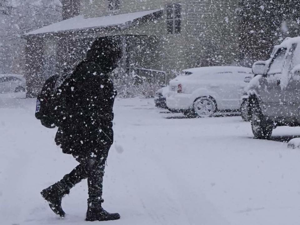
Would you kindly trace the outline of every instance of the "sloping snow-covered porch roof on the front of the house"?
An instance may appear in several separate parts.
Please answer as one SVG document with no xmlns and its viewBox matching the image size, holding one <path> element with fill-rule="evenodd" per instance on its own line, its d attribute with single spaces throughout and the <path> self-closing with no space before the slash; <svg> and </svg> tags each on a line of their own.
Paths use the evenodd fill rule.
<svg viewBox="0 0 300 225">
<path fill-rule="evenodd" d="M 127 23 L 133 22 L 139 18 L 145 17 L 147 15 L 153 14 L 155 12 L 162 11 L 162 9 L 141 11 L 141 12 L 131 12 L 126 14 L 118 14 L 103 17 L 93 17 L 84 18 L 83 15 L 73 17 L 71 19 L 63 20 L 57 23 L 50 24 L 46 27 L 31 31 L 25 35 L 35 35 L 42 33 L 58 33 L 64 31 L 72 30 L 82 30 L 98 27 L 112 27 L 118 26 L 122 28 Z"/>
</svg>

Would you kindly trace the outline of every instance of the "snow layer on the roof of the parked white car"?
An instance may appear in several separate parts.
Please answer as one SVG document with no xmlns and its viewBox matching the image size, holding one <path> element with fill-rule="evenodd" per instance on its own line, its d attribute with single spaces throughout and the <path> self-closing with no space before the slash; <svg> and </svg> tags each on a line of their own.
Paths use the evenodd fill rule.
<svg viewBox="0 0 300 225">
<path fill-rule="evenodd" d="M 244 72 L 252 73 L 251 68 L 247 67 L 237 67 L 237 66 L 213 66 L 213 67 L 197 67 L 184 69 L 183 72 L 191 73 L 220 73 L 220 72 Z"/>
</svg>

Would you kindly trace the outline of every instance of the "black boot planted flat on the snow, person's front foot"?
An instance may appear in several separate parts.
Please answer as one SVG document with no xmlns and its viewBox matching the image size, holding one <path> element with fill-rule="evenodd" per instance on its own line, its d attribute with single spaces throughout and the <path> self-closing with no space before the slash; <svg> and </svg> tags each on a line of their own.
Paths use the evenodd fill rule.
<svg viewBox="0 0 300 225">
<path fill-rule="evenodd" d="M 108 221 L 120 219 L 119 213 L 109 213 L 105 211 L 101 206 L 101 202 L 103 202 L 103 200 L 88 200 L 87 218 L 85 219 L 86 221 Z"/>
</svg>

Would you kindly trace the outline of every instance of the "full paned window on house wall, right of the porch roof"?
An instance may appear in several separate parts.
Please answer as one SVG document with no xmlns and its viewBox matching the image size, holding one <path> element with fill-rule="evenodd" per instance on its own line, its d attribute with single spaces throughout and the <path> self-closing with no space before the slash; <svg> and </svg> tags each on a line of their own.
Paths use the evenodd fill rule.
<svg viewBox="0 0 300 225">
<path fill-rule="evenodd" d="M 181 4 L 167 5 L 167 33 L 179 34 L 181 32 Z"/>
</svg>

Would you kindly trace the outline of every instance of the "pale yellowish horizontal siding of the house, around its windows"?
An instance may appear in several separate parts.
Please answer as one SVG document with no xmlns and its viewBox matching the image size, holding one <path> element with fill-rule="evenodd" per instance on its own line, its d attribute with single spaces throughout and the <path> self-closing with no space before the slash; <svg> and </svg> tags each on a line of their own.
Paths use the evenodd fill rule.
<svg viewBox="0 0 300 225">
<path fill-rule="evenodd" d="M 108 15 L 107 0 L 84 0 L 85 17 Z M 170 3 L 182 5 L 181 34 L 168 35 L 166 10 L 163 18 L 152 25 L 128 29 L 124 34 L 156 35 L 160 37 L 160 66 L 167 71 L 187 67 L 234 64 L 238 61 L 238 22 L 236 9 L 239 0 L 120 0 L 120 10 L 129 13 L 163 8 Z M 155 68 L 158 69 L 158 68 Z"/>
</svg>

